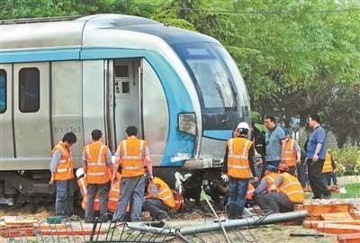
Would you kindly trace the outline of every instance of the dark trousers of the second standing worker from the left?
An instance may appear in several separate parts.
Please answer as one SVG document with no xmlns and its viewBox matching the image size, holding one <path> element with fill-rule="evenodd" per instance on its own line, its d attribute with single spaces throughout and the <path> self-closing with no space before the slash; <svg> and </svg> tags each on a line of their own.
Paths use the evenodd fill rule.
<svg viewBox="0 0 360 243">
<path fill-rule="evenodd" d="M 87 204 L 85 210 L 85 220 L 94 220 L 94 200 L 97 192 L 99 192 L 100 217 L 101 219 L 103 219 L 103 216 L 107 213 L 109 190 L 109 182 L 104 184 L 87 184 Z"/>
</svg>

